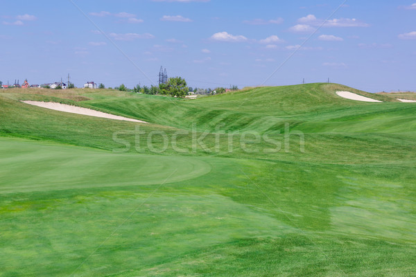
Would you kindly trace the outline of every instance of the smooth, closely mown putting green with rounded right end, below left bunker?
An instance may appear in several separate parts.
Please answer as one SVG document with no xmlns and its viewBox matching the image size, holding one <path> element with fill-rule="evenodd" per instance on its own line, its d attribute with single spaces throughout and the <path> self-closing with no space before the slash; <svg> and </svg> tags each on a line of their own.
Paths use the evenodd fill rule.
<svg viewBox="0 0 416 277">
<path fill-rule="evenodd" d="M 112 154 L 2 138 L 0 156 L 2 193 L 163 184 L 211 170 L 191 157 Z"/>
</svg>

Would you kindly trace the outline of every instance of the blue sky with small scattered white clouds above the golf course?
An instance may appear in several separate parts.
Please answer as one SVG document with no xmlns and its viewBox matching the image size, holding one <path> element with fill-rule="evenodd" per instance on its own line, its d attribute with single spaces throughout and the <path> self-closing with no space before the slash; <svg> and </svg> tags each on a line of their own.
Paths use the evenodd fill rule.
<svg viewBox="0 0 416 277">
<path fill-rule="evenodd" d="M 416 91 L 416 0 L 2 1 L 0 81 Z"/>
</svg>

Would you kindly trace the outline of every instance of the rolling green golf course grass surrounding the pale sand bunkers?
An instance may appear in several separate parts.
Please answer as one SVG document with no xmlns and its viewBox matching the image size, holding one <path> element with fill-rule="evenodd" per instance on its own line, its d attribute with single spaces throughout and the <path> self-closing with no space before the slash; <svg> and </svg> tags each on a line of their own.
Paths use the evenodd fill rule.
<svg viewBox="0 0 416 277">
<path fill-rule="evenodd" d="M 336 96 L 347 90 L 383 103 Z M 0 93 L 0 276 L 413 276 L 416 105 L 338 84 Z M 66 114 L 53 100 L 146 120 Z M 291 132 L 284 148 L 285 123 Z M 147 136 L 191 133 L 155 153 Z M 228 151 L 234 134 L 234 150 Z M 245 141 L 245 131 L 275 145 Z M 113 140 L 114 133 L 130 149 Z M 219 149 L 215 150 L 216 140 Z M 251 141 L 250 141 L 251 140 Z M 153 146 L 164 148 L 160 136 Z"/>
</svg>

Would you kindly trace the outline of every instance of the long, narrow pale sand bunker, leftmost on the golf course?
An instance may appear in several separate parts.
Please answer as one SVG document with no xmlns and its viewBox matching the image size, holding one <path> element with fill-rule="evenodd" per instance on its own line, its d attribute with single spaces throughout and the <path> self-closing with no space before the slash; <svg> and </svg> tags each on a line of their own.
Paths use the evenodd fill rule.
<svg viewBox="0 0 416 277">
<path fill-rule="evenodd" d="M 82 114 L 84 116 L 95 116 L 95 117 L 109 118 L 109 119 L 115 119 L 115 120 L 132 121 L 132 122 L 137 122 L 137 123 L 147 123 L 147 122 L 133 119 L 133 118 L 127 118 L 123 116 L 114 116 L 114 114 L 106 114 L 102 111 L 96 111 L 94 109 L 76 107 L 76 106 L 60 104 L 56 102 L 40 102 L 40 101 L 21 101 L 21 102 L 25 102 L 26 104 L 34 105 L 34 106 L 42 107 L 46 109 L 53 109 L 55 111 L 64 111 L 64 112 L 68 112 L 71 114 Z"/>
</svg>

